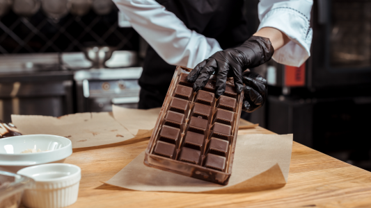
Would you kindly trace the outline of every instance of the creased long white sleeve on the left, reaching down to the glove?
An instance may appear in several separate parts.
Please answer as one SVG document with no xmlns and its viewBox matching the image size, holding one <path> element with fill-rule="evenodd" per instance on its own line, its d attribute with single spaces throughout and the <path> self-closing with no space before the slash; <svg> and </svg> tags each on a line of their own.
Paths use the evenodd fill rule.
<svg viewBox="0 0 371 208">
<path fill-rule="evenodd" d="M 214 38 L 191 31 L 155 0 L 113 0 L 132 27 L 168 64 L 190 68 L 221 46 Z"/>
</svg>

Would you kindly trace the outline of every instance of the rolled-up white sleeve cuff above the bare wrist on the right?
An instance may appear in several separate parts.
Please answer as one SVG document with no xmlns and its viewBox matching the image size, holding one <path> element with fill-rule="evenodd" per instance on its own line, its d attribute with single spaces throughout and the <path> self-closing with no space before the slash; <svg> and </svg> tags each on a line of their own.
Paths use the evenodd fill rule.
<svg viewBox="0 0 371 208">
<path fill-rule="evenodd" d="M 313 0 L 261 0 L 258 5 L 260 28 L 280 30 L 290 38 L 281 49 L 275 50 L 276 62 L 299 67 L 310 56 L 312 28 L 310 10 Z"/>
</svg>

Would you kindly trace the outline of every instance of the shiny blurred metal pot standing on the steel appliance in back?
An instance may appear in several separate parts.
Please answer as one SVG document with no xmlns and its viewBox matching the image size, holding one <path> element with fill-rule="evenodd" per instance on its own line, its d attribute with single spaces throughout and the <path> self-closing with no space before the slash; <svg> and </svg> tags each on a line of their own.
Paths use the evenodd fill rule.
<svg viewBox="0 0 371 208">
<path fill-rule="evenodd" d="M 102 69 L 106 68 L 104 63 L 111 58 L 115 48 L 110 46 L 90 46 L 85 47 L 83 51 L 86 58 L 93 63 L 93 69 Z"/>
</svg>

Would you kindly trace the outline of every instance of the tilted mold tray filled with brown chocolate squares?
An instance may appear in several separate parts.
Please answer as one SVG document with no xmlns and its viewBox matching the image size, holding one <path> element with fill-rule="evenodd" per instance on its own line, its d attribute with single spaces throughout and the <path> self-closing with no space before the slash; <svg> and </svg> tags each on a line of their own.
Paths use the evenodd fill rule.
<svg viewBox="0 0 371 208">
<path fill-rule="evenodd" d="M 144 164 L 164 171 L 228 184 L 243 94 L 228 84 L 214 98 L 214 80 L 194 92 L 191 69 L 177 67 L 145 150 Z"/>
</svg>

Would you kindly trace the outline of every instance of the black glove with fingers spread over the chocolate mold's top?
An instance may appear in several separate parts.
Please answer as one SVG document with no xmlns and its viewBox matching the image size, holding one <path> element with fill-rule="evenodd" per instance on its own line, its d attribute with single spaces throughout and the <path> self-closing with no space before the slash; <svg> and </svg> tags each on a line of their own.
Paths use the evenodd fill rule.
<svg viewBox="0 0 371 208">
<path fill-rule="evenodd" d="M 188 81 L 194 83 L 194 91 L 197 92 L 205 87 L 210 76 L 215 73 L 215 97 L 219 98 L 226 91 L 227 78 L 233 77 L 236 91 L 239 94 L 244 89 L 242 72 L 269 61 L 273 53 L 274 49 L 268 38 L 251 36 L 241 46 L 218 51 L 207 60 L 197 64 L 189 73 Z"/>
</svg>

